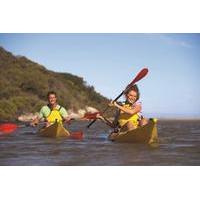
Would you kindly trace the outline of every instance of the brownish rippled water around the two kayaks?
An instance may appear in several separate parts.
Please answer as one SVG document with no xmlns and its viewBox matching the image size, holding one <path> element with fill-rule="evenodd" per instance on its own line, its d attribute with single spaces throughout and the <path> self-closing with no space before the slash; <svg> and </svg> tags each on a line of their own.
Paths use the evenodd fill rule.
<svg viewBox="0 0 200 200">
<path fill-rule="evenodd" d="M 0 136 L 0 165 L 200 165 L 200 121 L 159 121 L 159 147 L 114 143 L 109 128 L 97 122 L 74 122 L 84 139 L 43 138 L 36 128 L 20 128 Z"/>
</svg>

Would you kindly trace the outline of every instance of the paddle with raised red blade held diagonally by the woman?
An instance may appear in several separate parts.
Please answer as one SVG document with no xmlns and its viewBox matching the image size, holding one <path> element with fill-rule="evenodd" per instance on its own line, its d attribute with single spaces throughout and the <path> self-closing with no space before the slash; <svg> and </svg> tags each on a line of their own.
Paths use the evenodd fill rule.
<svg viewBox="0 0 200 200">
<path fill-rule="evenodd" d="M 125 88 L 125 90 L 123 90 L 113 101 L 117 101 L 127 90 L 129 90 L 129 89 L 131 88 L 131 86 L 133 86 L 136 82 L 138 82 L 139 80 L 141 80 L 142 78 L 144 78 L 144 77 L 147 75 L 147 73 L 148 73 L 148 69 L 147 69 L 147 68 L 143 68 L 143 69 L 137 74 L 137 76 L 131 81 L 131 83 L 129 83 L 129 84 L 127 85 L 127 87 Z M 105 110 L 102 112 L 102 114 L 104 114 L 104 113 L 108 110 L 109 107 L 110 107 L 110 106 L 108 105 L 108 106 L 105 108 Z M 97 120 L 97 119 L 94 119 L 91 123 L 89 123 L 89 124 L 87 125 L 87 128 L 90 128 L 90 126 L 91 126 L 92 124 L 94 124 L 94 123 L 96 122 L 96 120 Z"/>
</svg>

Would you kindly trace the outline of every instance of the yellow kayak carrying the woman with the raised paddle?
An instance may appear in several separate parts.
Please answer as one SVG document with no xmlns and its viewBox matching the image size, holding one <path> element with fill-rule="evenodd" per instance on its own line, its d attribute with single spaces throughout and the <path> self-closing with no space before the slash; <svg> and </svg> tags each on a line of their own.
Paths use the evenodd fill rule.
<svg viewBox="0 0 200 200">
<path fill-rule="evenodd" d="M 130 142 L 130 143 L 158 143 L 157 133 L 157 119 L 149 119 L 148 124 L 137 129 L 111 133 L 108 139 L 116 142 Z"/>
</svg>

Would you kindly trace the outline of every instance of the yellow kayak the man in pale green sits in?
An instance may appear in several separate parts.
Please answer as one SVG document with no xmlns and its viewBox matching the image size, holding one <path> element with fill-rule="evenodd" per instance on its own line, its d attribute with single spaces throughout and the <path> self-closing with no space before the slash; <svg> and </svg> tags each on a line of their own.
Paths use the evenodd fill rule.
<svg viewBox="0 0 200 200">
<path fill-rule="evenodd" d="M 54 124 L 39 130 L 39 135 L 44 137 L 69 137 L 70 133 L 61 123 Z"/>
</svg>

